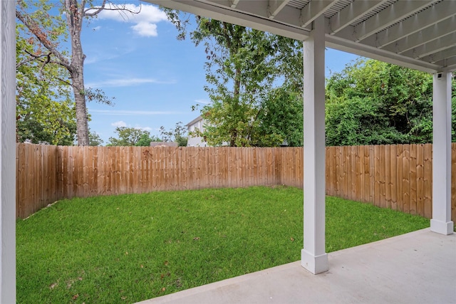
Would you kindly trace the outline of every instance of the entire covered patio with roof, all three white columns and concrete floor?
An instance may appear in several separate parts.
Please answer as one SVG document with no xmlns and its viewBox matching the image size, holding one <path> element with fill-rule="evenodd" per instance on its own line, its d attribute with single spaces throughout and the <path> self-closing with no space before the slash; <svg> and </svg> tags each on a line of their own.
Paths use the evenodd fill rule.
<svg viewBox="0 0 456 304">
<path fill-rule="evenodd" d="M 147 1 L 304 43 L 305 212 L 301 261 L 166 299 L 176 303 L 455 303 L 455 236 L 447 236 L 453 233 L 454 0 Z M 0 303 L 16 303 L 14 11 L 15 1 L 0 1 Z M 329 258 L 325 250 L 326 47 L 423 70 L 432 73 L 434 79 L 430 230 L 338 251 Z M 317 273 L 322 274 L 314 276 Z"/>
</svg>

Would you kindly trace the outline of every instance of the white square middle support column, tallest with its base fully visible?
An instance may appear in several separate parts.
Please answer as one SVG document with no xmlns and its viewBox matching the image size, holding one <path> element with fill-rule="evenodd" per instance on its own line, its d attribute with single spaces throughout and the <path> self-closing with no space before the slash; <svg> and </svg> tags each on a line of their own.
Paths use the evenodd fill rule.
<svg viewBox="0 0 456 304">
<path fill-rule="evenodd" d="M 311 273 L 328 271 L 325 252 L 325 33 L 314 21 L 304 41 L 304 249 L 301 265 Z"/>
</svg>

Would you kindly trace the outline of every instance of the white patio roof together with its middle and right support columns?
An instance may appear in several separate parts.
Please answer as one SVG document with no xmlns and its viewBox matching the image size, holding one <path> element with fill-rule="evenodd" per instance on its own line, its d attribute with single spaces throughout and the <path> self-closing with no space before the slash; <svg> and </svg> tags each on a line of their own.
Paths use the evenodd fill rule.
<svg viewBox="0 0 456 304">
<path fill-rule="evenodd" d="M 455 0 L 146 0 L 303 41 L 304 249 L 301 265 L 328 270 L 325 252 L 325 47 L 434 74 L 431 230 L 452 234 L 451 80 Z"/>
</svg>

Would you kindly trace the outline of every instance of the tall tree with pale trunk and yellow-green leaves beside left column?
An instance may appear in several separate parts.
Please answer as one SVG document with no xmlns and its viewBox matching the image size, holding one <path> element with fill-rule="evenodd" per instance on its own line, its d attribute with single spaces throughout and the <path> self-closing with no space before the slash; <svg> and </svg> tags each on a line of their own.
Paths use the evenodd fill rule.
<svg viewBox="0 0 456 304">
<path fill-rule="evenodd" d="M 109 5 L 110 1 L 108 1 Z M 68 98 L 69 90 L 73 91 L 73 110 L 76 112 L 76 135 L 78 137 L 78 145 L 88 145 L 88 113 L 86 108 L 87 100 L 96 100 L 100 103 L 112 104 L 110 98 L 106 98 L 103 91 L 93 90 L 84 87 L 83 79 L 83 68 L 84 58 L 82 44 L 81 44 L 81 31 L 83 28 L 83 21 L 97 16 L 105 7 L 106 1 L 97 4 L 96 1 L 50 1 L 50 0 L 19 0 L 16 5 L 16 18 L 18 22 L 18 41 L 17 52 L 19 56 L 17 58 L 16 68 L 26 66 L 27 68 L 33 69 L 33 71 L 21 73 L 28 73 L 28 75 L 34 74 L 34 77 L 38 79 L 34 81 L 30 76 L 21 79 L 24 82 L 24 87 L 35 86 L 31 88 L 34 93 L 38 92 L 38 87 L 53 88 L 53 85 L 43 84 L 44 81 L 48 81 L 51 84 L 57 84 L 56 91 L 61 93 L 62 88 L 65 88 L 63 98 L 55 98 L 52 95 L 51 89 L 45 88 L 40 90 L 40 94 L 43 95 L 43 99 L 47 99 L 43 105 L 47 109 L 48 104 L 54 102 L 56 108 L 58 104 L 62 104 L 62 99 Z M 93 7 L 93 6 L 95 7 Z M 98 6 L 100 5 L 100 6 Z M 111 10 L 125 11 L 125 6 L 116 6 Z M 71 36 L 71 52 L 66 49 L 68 44 L 68 37 Z M 25 69 L 25 68 L 23 68 Z M 30 94 L 29 94 L 30 95 Z M 60 96 L 60 95 L 58 95 Z M 21 113 L 21 118 L 26 115 L 30 116 L 33 122 L 36 124 L 29 123 L 27 127 L 32 125 L 40 125 L 43 120 L 38 116 L 38 112 L 32 112 L 33 109 L 25 105 L 25 103 L 34 103 L 30 100 L 30 96 L 23 95 L 21 100 L 24 105 L 21 110 L 25 113 Z M 65 105 L 63 105 L 65 107 Z M 25 110 L 24 110 L 25 109 Z M 58 110 L 62 112 L 62 109 Z M 52 142 L 57 143 L 59 137 L 70 137 L 68 135 L 68 127 L 65 123 L 68 120 L 68 115 L 63 113 L 61 120 L 61 126 L 63 131 L 58 130 L 58 125 L 53 123 L 52 127 L 45 126 L 43 132 L 54 132 L 56 137 L 52 137 Z M 28 117 L 26 118 L 29 119 Z M 29 130 L 18 131 L 20 138 L 23 135 L 28 136 Z M 36 132 L 35 132 L 36 133 Z"/>
</svg>

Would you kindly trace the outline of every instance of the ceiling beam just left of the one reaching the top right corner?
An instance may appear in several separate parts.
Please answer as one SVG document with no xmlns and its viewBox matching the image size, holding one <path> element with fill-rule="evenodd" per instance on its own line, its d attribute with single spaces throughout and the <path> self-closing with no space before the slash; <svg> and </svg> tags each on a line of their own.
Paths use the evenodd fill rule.
<svg viewBox="0 0 456 304">
<path fill-rule="evenodd" d="M 383 9 L 383 11 L 375 14 L 375 16 L 372 16 L 363 23 L 355 26 L 357 41 L 361 41 L 368 36 L 383 31 L 383 29 L 388 28 L 388 26 L 424 9 L 429 4 L 432 4 L 432 2 L 434 1 L 403 0 L 391 4 L 386 9 Z"/>
</svg>

